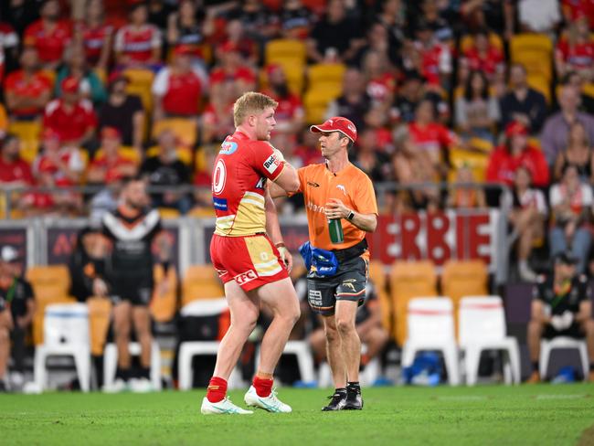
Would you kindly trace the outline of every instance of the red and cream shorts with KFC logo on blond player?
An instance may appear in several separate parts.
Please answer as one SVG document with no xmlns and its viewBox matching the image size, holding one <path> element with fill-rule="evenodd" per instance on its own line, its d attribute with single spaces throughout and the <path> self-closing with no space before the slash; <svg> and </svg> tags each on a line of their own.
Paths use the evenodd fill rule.
<svg viewBox="0 0 594 446">
<path fill-rule="evenodd" d="M 210 240 L 210 259 L 223 283 L 235 280 L 244 292 L 289 277 L 279 250 L 265 235 Z"/>
</svg>

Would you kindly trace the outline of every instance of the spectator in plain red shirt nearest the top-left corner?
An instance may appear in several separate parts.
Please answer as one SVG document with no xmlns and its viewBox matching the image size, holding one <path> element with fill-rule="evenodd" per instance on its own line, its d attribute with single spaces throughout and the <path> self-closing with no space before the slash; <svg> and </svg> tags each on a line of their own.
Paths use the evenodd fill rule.
<svg viewBox="0 0 594 446">
<path fill-rule="evenodd" d="M 45 69 L 57 69 L 72 38 L 72 28 L 69 21 L 60 20 L 58 0 L 47 0 L 39 15 L 41 18 L 25 31 L 25 45 L 37 48 Z"/>
</svg>

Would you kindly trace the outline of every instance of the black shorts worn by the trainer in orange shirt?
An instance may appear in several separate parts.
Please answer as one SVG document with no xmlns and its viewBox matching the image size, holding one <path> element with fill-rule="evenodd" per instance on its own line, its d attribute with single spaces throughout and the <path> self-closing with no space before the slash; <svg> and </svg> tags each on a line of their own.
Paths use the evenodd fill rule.
<svg viewBox="0 0 594 446">
<path fill-rule="evenodd" d="M 319 277 L 315 272 L 307 275 L 307 301 L 313 313 L 324 316 L 334 314 L 336 301 L 365 303 L 368 262 L 362 257 L 343 261 L 336 274 Z"/>
</svg>

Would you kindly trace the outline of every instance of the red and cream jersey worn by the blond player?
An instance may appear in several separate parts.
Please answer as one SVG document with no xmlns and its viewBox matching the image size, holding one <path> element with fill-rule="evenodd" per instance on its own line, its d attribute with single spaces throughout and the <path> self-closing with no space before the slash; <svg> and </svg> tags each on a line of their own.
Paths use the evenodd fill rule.
<svg viewBox="0 0 594 446">
<path fill-rule="evenodd" d="M 217 214 L 215 234 L 227 237 L 266 232 L 266 180 L 281 175 L 284 162 L 270 143 L 251 141 L 239 131 L 221 144 L 212 175 L 212 200 Z"/>
</svg>

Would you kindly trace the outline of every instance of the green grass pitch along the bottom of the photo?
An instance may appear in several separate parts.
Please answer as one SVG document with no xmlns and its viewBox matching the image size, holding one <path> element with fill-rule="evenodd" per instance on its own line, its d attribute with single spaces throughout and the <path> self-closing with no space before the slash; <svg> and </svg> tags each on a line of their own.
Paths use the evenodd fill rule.
<svg viewBox="0 0 594 446">
<path fill-rule="evenodd" d="M 292 414 L 208 417 L 204 391 L 0 395 L 0 444 L 594 444 L 594 384 L 365 388 L 363 411 L 323 413 L 329 393 L 281 388 Z"/>
</svg>

